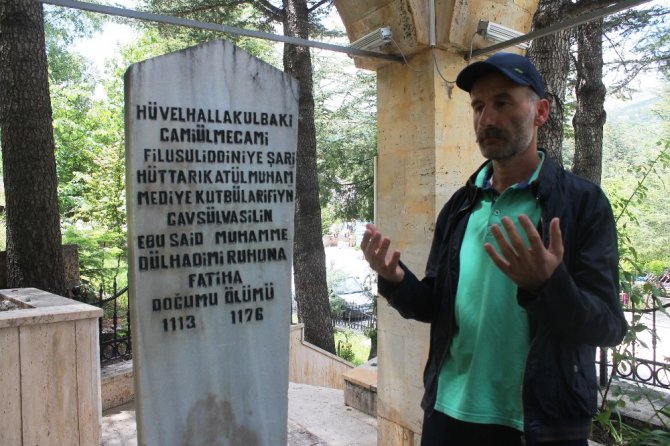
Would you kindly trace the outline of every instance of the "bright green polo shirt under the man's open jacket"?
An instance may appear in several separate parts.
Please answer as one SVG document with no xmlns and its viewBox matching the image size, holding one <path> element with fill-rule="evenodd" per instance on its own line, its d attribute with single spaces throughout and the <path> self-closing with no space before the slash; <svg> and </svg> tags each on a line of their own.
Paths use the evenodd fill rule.
<svg viewBox="0 0 670 446">
<path fill-rule="evenodd" d="M 542 161 L 527 181 L 500 195 L 490 186 L 490 163 L 477 176 L 482 198 L 470 215 L 461 246 L 455 333 L 440 371 L 435 403 L 436 410 L 461 421 L 523 431 L 521 386 L 530 345 L 528 316 L 517 303 L 516 284 L 489 258 L 484 243 L 498 248 L 490 227 L 502 227 L 504 216 L 512 218 L 524 239 L 516 217 L 526 214 L 537 226 L 541 210 L 528 186 L 544 162 L 544 154 L 540 156 Z"/>
</svg>

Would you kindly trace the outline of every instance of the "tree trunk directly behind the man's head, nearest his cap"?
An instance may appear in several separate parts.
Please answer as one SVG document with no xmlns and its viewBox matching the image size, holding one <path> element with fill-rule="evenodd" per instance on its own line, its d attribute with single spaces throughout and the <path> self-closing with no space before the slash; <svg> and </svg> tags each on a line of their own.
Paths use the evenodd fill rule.
<svg viewBox="0 0 670 446">
<path fill-rule="evenodd" d="M 533 17 L 533 28 L 546 28 L 559 21 L 561 11 L 568 3 L 570 0 L 540 0 Z M 570 30 L 535 39 L 528 50 L 528 57 L 542 74 L 547 99 L 551 102 L 549 119 L 538 134 L 538 146 L 547 149 L 549 155 L 563 165 L 563 121 L 570 70 Z"/>
</svg>

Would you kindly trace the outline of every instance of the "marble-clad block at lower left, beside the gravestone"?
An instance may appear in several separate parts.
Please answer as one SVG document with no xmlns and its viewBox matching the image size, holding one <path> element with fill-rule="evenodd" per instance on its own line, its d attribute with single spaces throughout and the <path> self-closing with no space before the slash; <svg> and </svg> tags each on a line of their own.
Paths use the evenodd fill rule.
<svg viewBox="0 0 670 446">
<path fill-rule="evenodd" d="M 35 288 L 0 300 L 0 444 L 100 444 L 102 310 Z"/>
</svg>

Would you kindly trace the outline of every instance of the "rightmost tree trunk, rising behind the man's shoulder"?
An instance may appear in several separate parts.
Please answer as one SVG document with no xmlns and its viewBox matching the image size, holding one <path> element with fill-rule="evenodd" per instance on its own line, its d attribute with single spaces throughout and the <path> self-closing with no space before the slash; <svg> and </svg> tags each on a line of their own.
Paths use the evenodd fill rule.
<svg viewBox="0 0 670 446">
<path fill-rule="evenodd" d="M 575 159 L 572 172 L 600 184 L 602 174 L 605 95 L 603 77 L 603 21 L 594 20 L 579 27 L 577 33 L 577 110 Z"/>
</svg>

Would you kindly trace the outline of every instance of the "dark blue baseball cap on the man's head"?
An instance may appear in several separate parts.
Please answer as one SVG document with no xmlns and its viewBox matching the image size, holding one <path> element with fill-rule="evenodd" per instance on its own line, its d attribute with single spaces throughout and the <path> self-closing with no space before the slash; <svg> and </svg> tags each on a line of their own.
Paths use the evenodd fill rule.
<svg viewBox="0 0 670 446">
<path fill-rule="evenodd" d="M 468 65 L 458 73 L 456 85 L 461 90 L 470 93 L 475 81 L 481 75 L 491 71 L 497 71 L 505 75 L 516 84 L 532 88 L 538 96 L 544 99 L 544 81 L 540 72 L 537 71 L 530 59 L 514 53 L 496 53 L 484 61 Z"/>
</svg>

